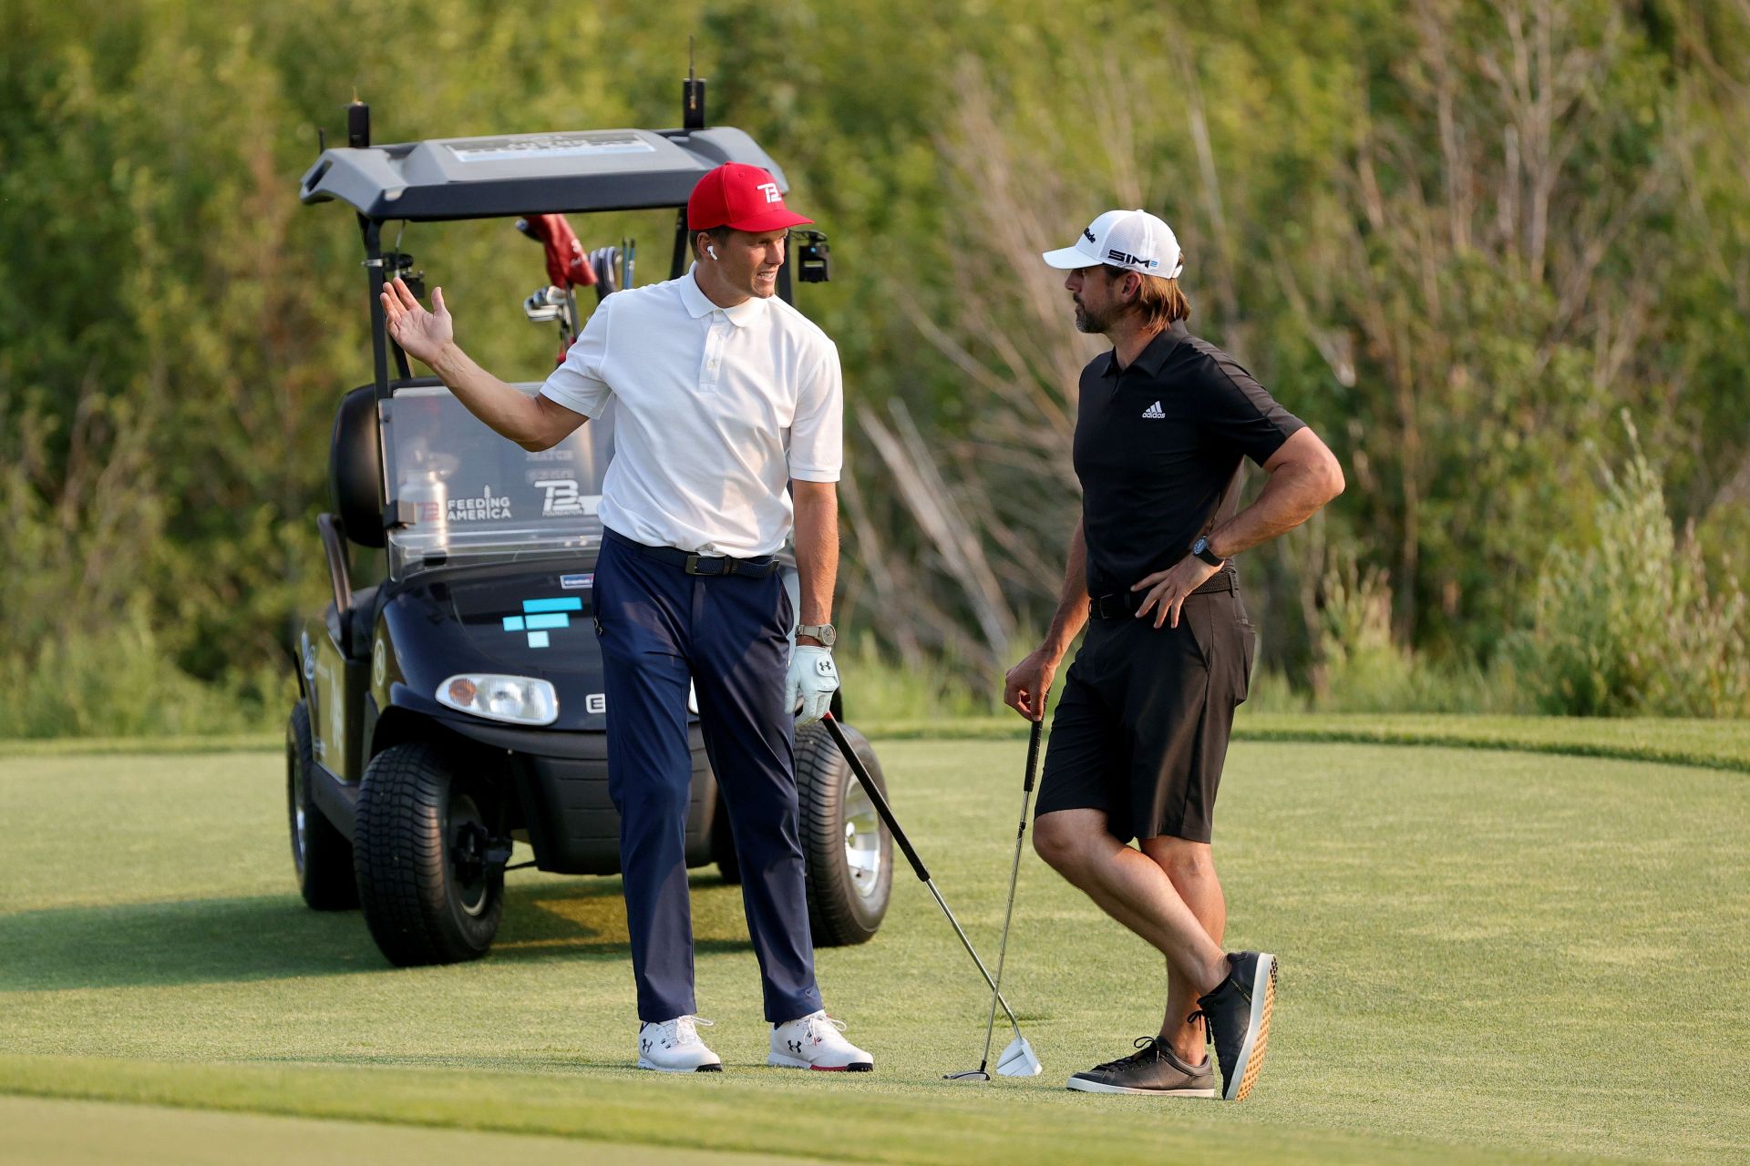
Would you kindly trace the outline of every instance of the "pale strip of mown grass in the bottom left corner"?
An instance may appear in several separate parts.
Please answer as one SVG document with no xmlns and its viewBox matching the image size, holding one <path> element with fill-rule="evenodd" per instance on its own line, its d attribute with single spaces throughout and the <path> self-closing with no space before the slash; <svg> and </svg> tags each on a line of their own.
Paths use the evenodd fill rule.
<svg viewBox="0 0 1750 1166">
<path fill-rule="evenodd" d="M 308 1166 L 310 1163 L 416 1163 L 418 1166 L 758 1166 L 765 1154 L 584 1143 L 539 1135 L 422 1129 L 374 1122 L 177 1110 L 114 1101 L 0 1096 L 0 1166 Z M 824 1159 L 784 1159 L 798 1166 Z"/>
</svg>

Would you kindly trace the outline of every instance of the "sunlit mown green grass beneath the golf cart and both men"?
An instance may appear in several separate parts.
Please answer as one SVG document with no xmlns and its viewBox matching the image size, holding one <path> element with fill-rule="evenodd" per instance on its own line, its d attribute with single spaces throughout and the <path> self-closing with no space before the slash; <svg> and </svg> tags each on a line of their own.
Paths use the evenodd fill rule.
<svg viewBox="0 0 1750 1166">
<path fill-rule="evenodd" d="M 896 811 L 994 949 L 1024 746 L 878 746 Z M 698 872 L 700 1005 L 726 1072 L 660 1079 L 625 1068 L 616 879 L 516 872 L 488 960 L 392 970 L 357 913 L 292 892 L 276 755 L 12 757 L 0 799 L 0 1093 L 906 1163 L 1720 1161 L 1750 1143 L 1729 1084 L 1750 1077 L 1750 785 L 1710 769 L 1236 745 L 1216 858 L 1228 939 L 1283 956 L 1278 1028 L 1250 1101 L 1166 1107 L 1062 1089 L 1153 1030 L 1160 960 L 1031 855 L 1004 991 L 1045 1077 L 940 1080 L 976 1065 L 989 995 L 908 874 L 872 944 L 819 958 L 880 1072 L 763 1068 L 738 893 Z"/>
</svg>

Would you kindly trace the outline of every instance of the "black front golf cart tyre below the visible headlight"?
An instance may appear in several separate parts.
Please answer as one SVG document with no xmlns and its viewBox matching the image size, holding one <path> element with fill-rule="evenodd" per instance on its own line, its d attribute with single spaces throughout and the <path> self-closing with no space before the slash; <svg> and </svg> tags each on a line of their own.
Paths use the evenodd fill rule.
<svg viewBox="0 0 1750 1166">
<path fill-rule="evenodd" d="M 397 967 L 478 960 L 504 911 L 504 867 L 486 862 L 492 802 L 425 741 L 371 759 L 354 853 L 371 939 Z"/>
</svg>

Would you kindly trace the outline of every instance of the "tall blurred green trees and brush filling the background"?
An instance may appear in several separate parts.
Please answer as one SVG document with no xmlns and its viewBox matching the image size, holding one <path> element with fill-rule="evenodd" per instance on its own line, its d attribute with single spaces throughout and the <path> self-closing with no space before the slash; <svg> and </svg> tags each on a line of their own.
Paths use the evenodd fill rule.
<svg viewBox="0 0 1750 1166">
<path fill-rule="evenodd" d="M 355 93 L 380 142 L 667 126 L 688 35 L 712 119 L 752 133 L 833 236 L 835 281 L 803 306 L 845 360 L 866 510 L 847 523 L 836 615 L 912 675 L 872 685 L 877 703 L 987 706 L 1006 645 L 962 629 L 1048 615 L 1076 505 L 1062 421 L 1097 344 L 1032 255 L 1118 203 L 1176 227 L 1194 327 L 1346 467 L 1316 547 L 1297 533 L 1248 556 L 1264 664 L 1306 699 L 1514 704 L 1503 633 L 1547 608 L 1547 547 L 1591 537 L 1598 486 L 1573 451 L 1622 407 L 1673 521 L 1704 535 L 1708 594 L 1726 594 L 1727 551 L 1750 556 L 1740 9 L 996 12 L 0 5 L 0 659 L 52 689 L 47 645 L 136 645 L 149 629 L 159 699 L 186 704 L 159 722 L 220 727 L 238 724 L 222 711 L 236 694 L 271 703 L 261 677 L 284 671 L 287 628 L 324 601 L 327 427 L 369 369 L 357 227 L 296 199 L 317 128 L 336 140 Z M 651 280 L 670 224 L 626 213 L 584 234 L 637 236 Z M 483 365 L 542 374 L 551 336 L 518 309 L 539 253 L 508 224 L 410 226 L 401 243 Z M 915 418 L 996 594 L 970 598 L 892 488 L 861 420 L 891 402 Z M 1388 572 L 1388 608 L 1334 610 L 1328 561 L 1377 568 L 1379 586 Z M 1633 706 L 1731 708 L 1727 663 L 1708 668 L 1684 680 L 1696 691 L 1636 689 Z M 96 711 L 89 691 L 32 699 L 63 710 L 33 725 L 133 715 Z"/>
</svg>

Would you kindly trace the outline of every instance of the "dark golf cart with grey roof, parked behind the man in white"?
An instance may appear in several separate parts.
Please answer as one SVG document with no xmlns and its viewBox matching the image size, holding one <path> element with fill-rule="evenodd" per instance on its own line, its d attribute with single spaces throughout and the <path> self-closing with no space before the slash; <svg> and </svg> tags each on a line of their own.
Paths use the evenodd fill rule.
<svg viewBox="0 0 1750 1166">
<path fill-rule="evenodd" d="M 485 954 L 509 869 L 620 872 L 592 622 L 597 502 L 614 427 L 609 409 L 553 449 L 528 453 L 439 381 L 413 376 L 385 330 L 378 288 L 401 274 L 424 290 L 411 257 L 383 248 L 383 227 L 522 217 L 518 227 L 548 248 L 551 278 L 525 311 L 556 322 L 569 343 L 581 327 L 578 288 L 600 297 L 628 285 L 634 246 L 586 253 L 564 215 L 676 208 L 670 276 L 679 276 L 686 198 L 724 161 L 763 166 L 788 185 L 746 133 L 705 128 L 704 82 L 690 80 L 684 128 L 663 131 L 373 147 L 369 110 L 355 103 L 348 145 L 324 149 L 303 177 L 304 203 L 340 199 L 357 212 L 374 378 L 341 399 L 334 420 L 334 509 L 317 521 L 334 598 L 294 649 L 303 699 L 285 732 L 292 860 L 304 902 L 360 907 L 396 965 Z M 793 266 L 803 281 L 824 280 L 824 238 L 803 238 L 780 269 L 786 301 Z M 354 586 L 354 547 L 380 552 L 382 582 Z M 784 572 L 800 610 L 793 556 Z M 688 736 L 686 862 L 716 864 L 737 883 L 696 699 Z M 878 783 L 873 750 L 854 741 Z M 891 834 L 821 725 L 796 732 L 796 783 L 814 942 L 864 942 L 887 909 Z M 532 858 L 513 864 L 516 843 Z"/>
</svg>

